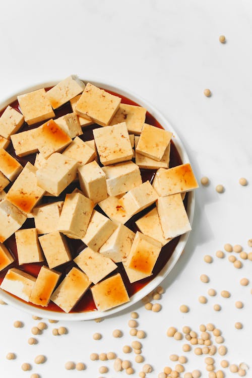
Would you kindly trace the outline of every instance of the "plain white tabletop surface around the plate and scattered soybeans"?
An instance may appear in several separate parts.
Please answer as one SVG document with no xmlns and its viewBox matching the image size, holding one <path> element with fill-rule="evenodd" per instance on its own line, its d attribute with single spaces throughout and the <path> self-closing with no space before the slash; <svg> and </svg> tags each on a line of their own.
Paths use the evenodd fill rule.
<svg viewBox="0 0 252 378">
<path fill-rule="evenodd" d="M 214 257 L 211 265 L 203 261 L 205 254 L 214 256 L 225 242 L 251 250 L 247 246 L 252 237 L 251 12 L 248 0 L 2 2 L 0 101 L 27 86 L 70 74 L 127 87 L 167 117 L 198 179 L 207 175 L 211 180 L 209 187 L 197 191 L 193 231 L 184 254 L 164 281 L 161 312 L 146 311 L 138 303 L 99 324 L 60 322 L 67 326 L 68 335 L 52 336 L 54 325 L 49 325 L 37 337 L 38 344 L 30 346 L 27 339 L 37 322 L 9 305 L 1 306 L 0 366 L 5 378 L 28 377 L 32 372 L 43 378 L 56 374 L 98 377 L 98 367 L 111 364 L 91 362 L 89 354 L 96 351 L 111 350 L 134 360 L 133 353 L 123 356 L 121 351 L 133 340 L 127 325 L 133 309 L 140 314 L 139 329 L 148 335 L 143 355 L 155 369 L 150 376 L 157 377 L 165 365 L 174 366 L 169 361 L 171 353 L 184 354 L 185 341 L 166 337 L 169 326 L 190 325 L 198 331 L 201 323 L 212 322 L 223 332 L 226 358 L 252 365 L 251 284 L 239 285 L 240 278 L 251 278 L 252 262 L 244 261 L 237 270 L 227 256 Z M 226 36 L 225 44 L 218 40 L 221 34 Z M 211 89 L 211 98 L 203 95 L 204 88 Z M 246 187 L 238 184 L 241 176 L 249 181 Z M 215 192 L 218 183 L 225 186 L 224 194 Z M 209 284 L 200 281 L 202 273 L 210 276 Z M 206 295 L 210 287 L 218 295 L 200 304 L 198 296 Z M 223 289 L 231 292 L 229 299 L 220 296 Z M 243 309 L 235 308 L 236 300 L 244 302 Z M 190 312 L 179 312 L 182 303 L 190 306 Z M 220 312 L 213 310 L 214 303 L 221 304 Z M 15 329 L 15 320 L 24 322 L 24 328 Z M 242 330 L 234 328 L 236 321 L 243 324 Z M 111 337 L 115 328 L 123 330 L 123 338 Z M 93 341 L 94 332 L 101 332 L 102 340 Z M 13 361 L 5 358 L 10 351 L 17 354 Z M 46 363 L 35 365 L 37 354 L 44 354 Z M 185 371 L 200 368 L 202 376 L 208 376 L 204 356 L 191 352 L 187 357 Z M 214 357 L 219 369 L 221 358 Z M 83 361 L 87 369 L 67 371 L 68 360 Z M 32 363 L 31 372 L 21 370 L 23 362 Z M 134 362 L 134 367 L 138 376 L 141 366 Z M 113 369 L 105 375 L 117 376 Z M 126 376 L 125 372 L 120 375 Z"/>
</svg>

